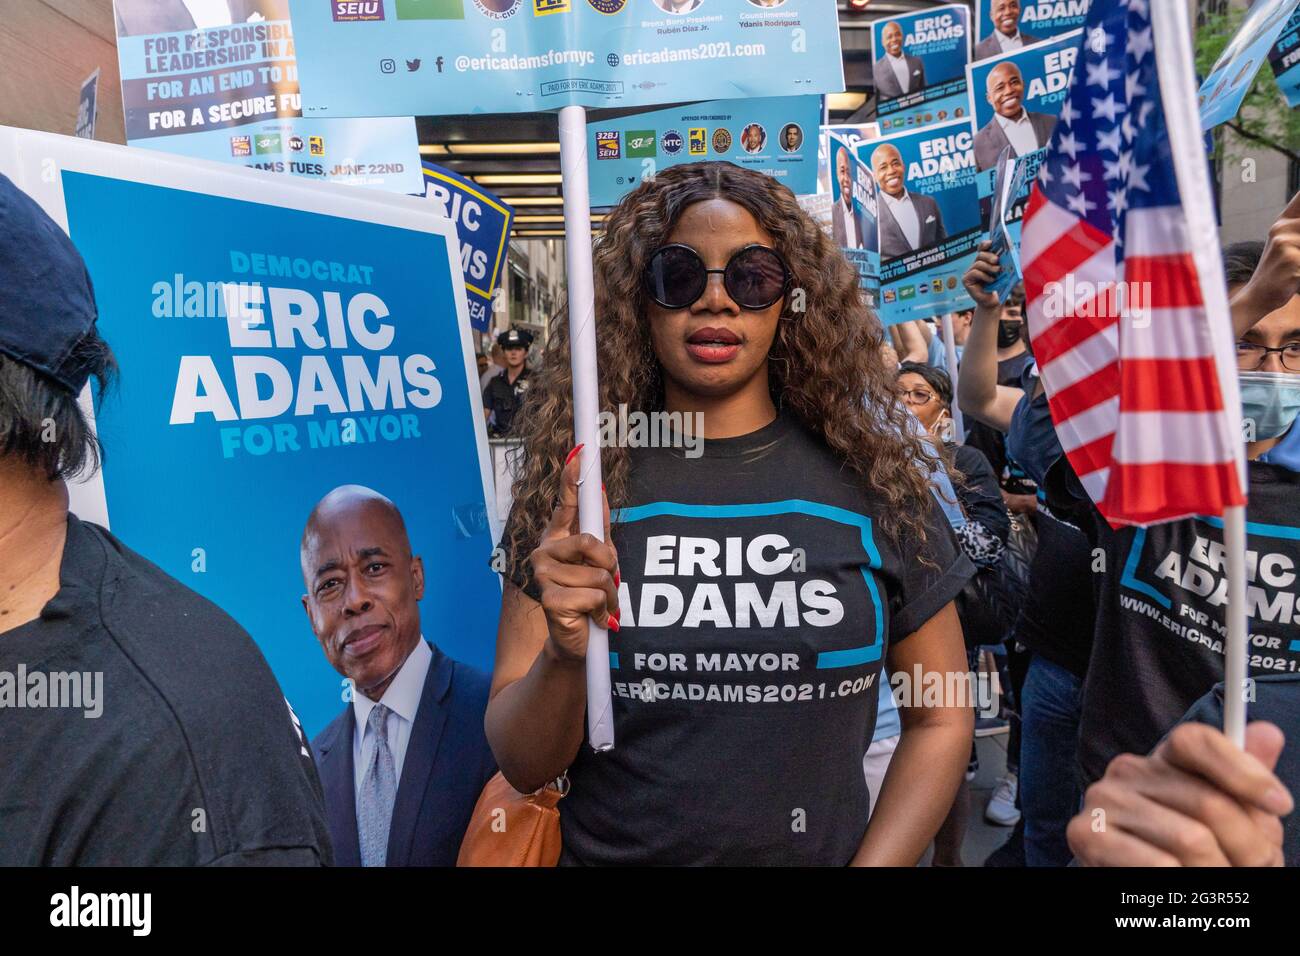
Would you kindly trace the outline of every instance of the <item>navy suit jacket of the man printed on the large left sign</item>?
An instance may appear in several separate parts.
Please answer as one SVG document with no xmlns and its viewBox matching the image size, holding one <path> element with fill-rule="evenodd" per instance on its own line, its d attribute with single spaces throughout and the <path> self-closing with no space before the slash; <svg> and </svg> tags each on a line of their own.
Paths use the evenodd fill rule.
<svg viewBox="0 0 1300 956">
<path fill-rule="evenodd" d="M 484 786 L 497 773 L 484 732 L 490 683 L 482 671 L 433 648 L 393 805 L 389 866 L 456 865 L 469 816 Z M 352 763 L 355 732 L 356 718 L 350 704 L 312 741 L 338 866 L 361 865 Z"/>
</svg>

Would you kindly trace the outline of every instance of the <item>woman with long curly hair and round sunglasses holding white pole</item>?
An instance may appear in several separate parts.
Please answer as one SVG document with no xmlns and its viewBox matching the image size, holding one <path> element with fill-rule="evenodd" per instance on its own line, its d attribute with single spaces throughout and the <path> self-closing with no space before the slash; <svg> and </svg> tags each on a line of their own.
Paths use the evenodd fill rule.
<svg viewBox="0 0 1300 956">
<path fill-rule="evenodd" d="M 788 189 L 729 163 L 660 172 L 604 230 L 601 407 L 682 431 L 604 447 L 608 544 L 577 533 L 568 329 L 552 325 L 502 542 L 486 717 L 502 773 L 529 792 L 568 770 L 563 864 L 914 865 L 971 710 L 904 709 L 874 813 L 862 757 L 883 665 L 966 672 L 953 598 L 972 568 L 858 277 Z M 584 747 L 589 619 L 610 630 L 606 753 Z"/>
</svg>

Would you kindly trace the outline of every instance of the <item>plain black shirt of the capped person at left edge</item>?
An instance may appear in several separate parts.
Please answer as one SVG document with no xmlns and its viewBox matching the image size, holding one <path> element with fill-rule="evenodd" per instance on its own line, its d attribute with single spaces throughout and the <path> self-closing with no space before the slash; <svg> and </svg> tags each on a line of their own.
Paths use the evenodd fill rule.
<svg viewBox="0 0 1300 956">
<path fill-rule="evenodd" d="M 0 865 L 333 862 L 307 739 L 252 639 L 75 516 L 58 593 L 0 633 Z"/>
</svg>

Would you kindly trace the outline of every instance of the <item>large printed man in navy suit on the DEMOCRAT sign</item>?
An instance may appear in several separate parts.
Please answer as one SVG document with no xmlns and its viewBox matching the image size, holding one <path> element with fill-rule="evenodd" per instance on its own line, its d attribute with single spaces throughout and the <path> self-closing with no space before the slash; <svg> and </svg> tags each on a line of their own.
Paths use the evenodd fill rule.
<svg viewBox="0 0 1300 956">
<path fill-rule="evenodd" d="M 339 866 L 454 866 L 497 771 L 489 678 L 424 639 L 424 562 L 378 492 L 342 485 L 312 510 L 303 609 L 351 701 L 312 741 Z"/>
</svg>

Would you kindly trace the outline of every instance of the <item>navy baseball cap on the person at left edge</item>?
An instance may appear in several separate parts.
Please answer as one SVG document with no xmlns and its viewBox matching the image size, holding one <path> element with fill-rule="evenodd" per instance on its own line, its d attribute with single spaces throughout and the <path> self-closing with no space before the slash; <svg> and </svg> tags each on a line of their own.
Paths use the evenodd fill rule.
<svg viewBox="0 0 1300 956">
<path fill-rule="evenodd" d="M 0 173 L 0 352 L 78 394 L 90 365 L 74 352 L 98 315 L 73 241 Z"/>
</svg>

